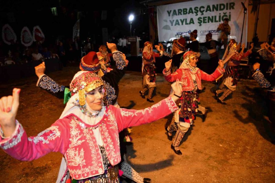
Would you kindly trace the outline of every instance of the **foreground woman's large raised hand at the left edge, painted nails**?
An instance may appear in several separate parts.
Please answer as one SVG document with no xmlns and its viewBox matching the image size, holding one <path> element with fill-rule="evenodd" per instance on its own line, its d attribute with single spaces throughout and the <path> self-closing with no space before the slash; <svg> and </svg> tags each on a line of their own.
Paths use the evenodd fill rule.
<svg viewBox="0 0 275 183">
<path fill-rule="evenodd" d="M 9 137 L 15 130 L 15 117 L 19 106 L 20 89 L 13 88 L 13 96 L 0 99 L 0 125 L 5 137 Z"/>
</svg>

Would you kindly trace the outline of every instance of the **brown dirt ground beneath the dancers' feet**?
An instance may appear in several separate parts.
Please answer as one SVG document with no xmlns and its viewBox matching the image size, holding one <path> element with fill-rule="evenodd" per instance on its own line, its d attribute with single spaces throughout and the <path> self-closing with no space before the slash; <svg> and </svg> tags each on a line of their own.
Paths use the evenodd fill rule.
<svg viewBox="0 0 275 183">
<path fill-rule="evenodd" d="M 50 73 L 60 84 L 69 84 L 78 67 Z M 28 136 L 37 135 L 59 118 L 63 101 L 35 86 L 37 77 L 0 84 L 1 97 L 21 88 L 17 119 Z M 170 92 L 162 74 L 157 76 L 156 102 Z M 162 182 L 275 182 L 275 146 L 271 143 L 266 103 L 262 89 L 254 80 L 241 80 L 238 89 L 223 106 L 211 92 L 216 85 L 203 82 L 201 105 L 210 107 L 205 122 L 197 115 L 180 146 L 182 156 L 171 150 L 164 127 L 171 115 L 132 128 L 133 144 L 127 146 L 127 159 L 143 177 Z M 130 72 L 119 83 L 118 102 L 128 109 L 144 109 L 152 103 L 142 99 L 141 73 Z M 60 153 L 50 153 L 32 162 L 15 160 L 0 150 L 0 182 L 55 182 Z"/>
</svg>

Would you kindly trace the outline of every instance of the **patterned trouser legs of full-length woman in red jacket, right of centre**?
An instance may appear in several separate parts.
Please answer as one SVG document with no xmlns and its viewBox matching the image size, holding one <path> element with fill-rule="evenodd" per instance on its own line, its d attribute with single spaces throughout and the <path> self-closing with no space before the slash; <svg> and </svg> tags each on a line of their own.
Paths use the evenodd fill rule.
<svg viewBox="0 0 275 183">
<path fill-rule="evenodd" d="M 173 138 L 172 145 L 176 150 L 179 149 L 179 144 L 182 142 L 182 138 L 184 137 L 185 133 L 188 131 L 189 127 L 183 127 L 179 123 L 176 123 L 174 120 L 174 117 L 172 118 L 172 122 L 170 126 L 167 127 L 167 130 L 169 131 L 168 135 L 172 135 L 174 131 L 176 132 L 176 135 Z"/>
</svg>

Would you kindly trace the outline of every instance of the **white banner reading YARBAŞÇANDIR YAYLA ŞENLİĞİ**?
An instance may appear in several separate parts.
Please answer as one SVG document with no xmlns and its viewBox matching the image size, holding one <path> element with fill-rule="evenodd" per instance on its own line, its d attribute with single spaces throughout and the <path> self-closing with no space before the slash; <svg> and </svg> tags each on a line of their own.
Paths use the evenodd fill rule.
<svg viewBox="0 0 275 183">
<path fill-rule="evenodd" d="M 179 36 L 188 35 L 198 30 L 197 40 L 205 41 L 205 35 L 212 33 L 212 39 L 218 39 L 217 28 L 224 18 L 229 18 L 231 33 L 228 39 L 241 39 L 244 20 L 242 42 L 247 42 L 247 14 L 244 19 L 244 2 L 248 8 L 248 0 L 196 0 L 180 2 L 157 7 L 157 21 L 159 41 L 171 41 Z M 231 36 L 231 37 L 230 37 Z"/>
</svg>

